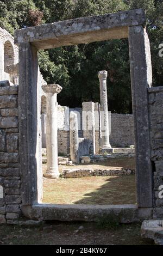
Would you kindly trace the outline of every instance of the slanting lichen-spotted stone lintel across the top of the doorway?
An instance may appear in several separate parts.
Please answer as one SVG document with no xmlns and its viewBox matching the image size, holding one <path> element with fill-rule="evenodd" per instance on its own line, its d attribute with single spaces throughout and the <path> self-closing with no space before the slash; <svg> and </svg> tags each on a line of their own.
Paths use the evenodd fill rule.
<svg viewBox="0 0 163 256">
<path fill-rule="evenodd" d="M 129 26 L 146 26 L 143 9 L 43 24 L 15 31 L 15 44 L 33 42 L 38 49 L 128 38 Z"/>
</svg>

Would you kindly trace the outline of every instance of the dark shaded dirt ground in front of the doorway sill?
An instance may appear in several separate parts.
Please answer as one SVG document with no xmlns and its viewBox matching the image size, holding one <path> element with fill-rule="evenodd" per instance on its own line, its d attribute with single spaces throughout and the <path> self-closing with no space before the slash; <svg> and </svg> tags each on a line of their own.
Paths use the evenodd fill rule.
<svg viewBox="0 0 163 256">
<path fill-rule="evenodd" d="M 109 228 L 96 223 L 51 223 L 40 228 L 0 225 L 0 245 L 153 245 L 153 241 L 141 238 L 140 227 L 123 224 Z"/>
</svg>

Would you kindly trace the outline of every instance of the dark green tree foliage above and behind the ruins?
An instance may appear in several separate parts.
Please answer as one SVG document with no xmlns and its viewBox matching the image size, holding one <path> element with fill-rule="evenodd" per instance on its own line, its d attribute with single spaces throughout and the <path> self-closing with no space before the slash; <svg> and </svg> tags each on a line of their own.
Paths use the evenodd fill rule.
<svg viewBox="0 0 163 256">
<path fill-rule="evenodd" d="M 153 86 L 163 86 L 163 2 L 160 0 L 4 0 L 0 1 L 0 26 L 11 34 L 18 28 L 76 17 L 143 8 L 151 42 Z M 108 71 L 108 105 L 111 112 L 131 113 L 128 39 L 93 42 L 39 51 L 39 64 L 47 83 L 63 89 L 58 101 L 80 107 L 84 101 L 99 102 L 97 72 Z"/>
</svg>

